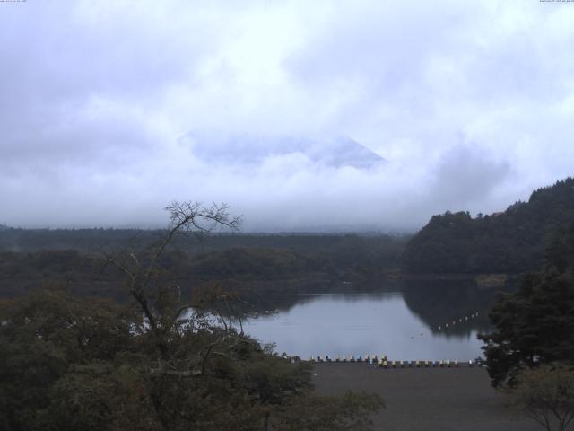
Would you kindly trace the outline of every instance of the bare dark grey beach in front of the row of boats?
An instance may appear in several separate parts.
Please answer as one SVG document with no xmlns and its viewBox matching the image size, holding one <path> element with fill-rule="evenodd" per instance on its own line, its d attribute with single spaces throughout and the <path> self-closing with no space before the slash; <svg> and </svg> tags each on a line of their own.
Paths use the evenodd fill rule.
<svg viewBox="0 0 574 431">
<path fill-rule="evenodd" d="M 383 369 L 366 364 L 316 364 L 316 391 L 347 389 L 381 395 L 387 409 L 375 429 L 389 431 L 541 431 L 505 408 L 485 368 Z"/>
</svg>

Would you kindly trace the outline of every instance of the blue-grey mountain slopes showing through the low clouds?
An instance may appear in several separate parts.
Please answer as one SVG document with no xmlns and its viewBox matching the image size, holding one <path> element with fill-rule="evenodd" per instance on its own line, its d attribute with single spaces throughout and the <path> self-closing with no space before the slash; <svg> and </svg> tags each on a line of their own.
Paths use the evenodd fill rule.
<svg viewBox="0 0 574 431">
<path fill-rule="evenodd" d="M 179 138 L 204 163 L 258 164 L 265 159 L 303 155 L 309 162 L 340 168 L 371 169 L 387 161 L 346 136 L 218 136 L 189 132 Z"/>
</svg>

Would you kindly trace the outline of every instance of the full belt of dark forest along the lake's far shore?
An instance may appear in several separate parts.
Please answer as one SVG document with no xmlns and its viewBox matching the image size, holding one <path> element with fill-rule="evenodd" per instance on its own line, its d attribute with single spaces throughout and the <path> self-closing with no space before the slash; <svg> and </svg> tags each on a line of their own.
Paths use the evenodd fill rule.
<svg viewBox="0 0 574 431">
<path fill-rule="evenodd" d="M 40 286 L 69 286 L 76 294 L 121 301 L 122 274 L 101 256 L 143 251 L 164 231 L 116 229 L 0 230 L 0 295 Z M 400 266 L 404 236 L 209 234 L 179 236 L 158 264 L 166 282 L 189 293 L 221 282 L 243 293 L 286 293 L 337 281 L 378 277 Z"/>
</svg>

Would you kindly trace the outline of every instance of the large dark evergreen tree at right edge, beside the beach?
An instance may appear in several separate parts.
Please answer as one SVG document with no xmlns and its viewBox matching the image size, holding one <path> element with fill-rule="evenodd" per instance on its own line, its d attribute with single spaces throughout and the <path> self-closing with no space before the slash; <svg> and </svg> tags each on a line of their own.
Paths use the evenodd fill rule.
<svg viewBox="0 0 574 431">
<path fill-rule="evenodd" d="M 544 271 L 526 275 L 492 307 L 497 330 L 479 336 L 494 386 L 516 383 L 523 368 L 574 365 L 574 224 L 554 235 L 546 256 Z"/>
</svg>

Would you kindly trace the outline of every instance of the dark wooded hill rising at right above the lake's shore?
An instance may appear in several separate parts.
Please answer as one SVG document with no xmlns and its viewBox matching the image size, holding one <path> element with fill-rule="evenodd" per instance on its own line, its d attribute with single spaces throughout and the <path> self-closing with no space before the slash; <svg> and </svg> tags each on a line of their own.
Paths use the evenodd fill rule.
<svg viewBox="0 0 574 431">
<path fill-rule="evenodd" d="M 528 202 L 503 213 L 447 212 L 407 243 L 403 268 L 411 273 L 510 273 L 540 268 L 544 247 L 574 221 L 574 179 L 535 190 Z"/>
</svg>

